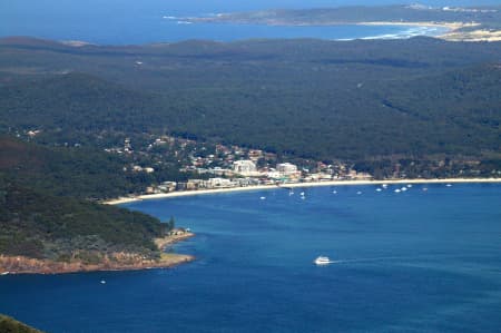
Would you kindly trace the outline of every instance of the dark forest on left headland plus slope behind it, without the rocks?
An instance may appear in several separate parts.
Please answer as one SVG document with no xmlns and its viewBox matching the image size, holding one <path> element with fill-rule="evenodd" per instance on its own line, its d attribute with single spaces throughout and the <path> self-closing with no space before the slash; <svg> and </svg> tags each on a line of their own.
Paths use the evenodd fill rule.
<svg viewBox="0 0 501 333">
<path fill-rule="evenodd" d="M 79 252 L 157 257 L 153 238 L 167 225 L 148 215 L 86 198 L 125 193 L 121 166 L 104 153 L 68 151 L 0 138 L 0 253 L 69 261 Z"/>
</svg>

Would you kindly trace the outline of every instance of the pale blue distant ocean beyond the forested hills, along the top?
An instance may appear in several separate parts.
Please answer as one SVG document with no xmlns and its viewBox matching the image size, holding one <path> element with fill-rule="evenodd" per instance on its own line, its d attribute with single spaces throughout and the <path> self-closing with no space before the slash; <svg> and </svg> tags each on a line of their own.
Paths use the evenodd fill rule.
<svg viewBox="0 0 501 333">
<path fill-rule="evenodd" d="M 56 40 L 82 40 L 100 45 L 128 45 L 212 39 L 220 41 L 249 38 L 353 39 L 364 37 L 406 38 L 440 35 L 434 29 L 406 27 L 259 27 L 239 25 L 183 25 L 164 17 L 200 16 L 217 12 L 274 8 L 312 8 L 348 4 L 391 4 L 394 0 L 2 0 L 0 37 L 31 36 Z M 431 6 L 499 4 L 494 0 L 420 1 Z"/>
</svg>

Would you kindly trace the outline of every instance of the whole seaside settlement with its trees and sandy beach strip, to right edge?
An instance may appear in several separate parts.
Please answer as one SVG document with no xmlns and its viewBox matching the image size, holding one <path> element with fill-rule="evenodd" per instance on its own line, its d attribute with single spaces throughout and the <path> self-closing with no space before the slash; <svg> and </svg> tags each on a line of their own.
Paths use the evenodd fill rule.
<svg viewBox="0 0 501 333">
<path fill-rule="evenodd" d="M 17 137 L 28 141 L 43 140 L 43 130 L 31 128 L 17 131 Z M 119 204 L 158 196 L 183 196 L 213 190 L 243 190 L 259 187 L 351 185 L 361 183 L 409 183 L 444 180 L 490 182 L 499 179 L 501 169 L 495 164 L 484 164 L 465 157 L 446 156 L 430 159 L 392 157 L 372 165 L 341 159 L 330 161 L 301 158 L 294 154 L 225 145 L 173 134 L 128 136 L 108 134 L 100 145 L 105 153 L 120 157 L 126 177 L 139 184 L 134 192 L 105 203 Z M 111 143 L 111 144 L 110 144 Z M 80 149 L 85 144 L 56 143 Z"/>
</svg>

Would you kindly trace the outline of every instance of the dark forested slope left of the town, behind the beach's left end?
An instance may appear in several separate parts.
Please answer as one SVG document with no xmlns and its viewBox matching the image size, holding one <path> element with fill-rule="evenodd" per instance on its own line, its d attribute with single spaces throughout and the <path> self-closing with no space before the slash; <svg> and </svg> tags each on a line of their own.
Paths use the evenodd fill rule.
<svg viewBox="0 0 501 333">
<path fill-rule="evenodd" d="M 45 147 L 0 137 L 0 176 L 58 196 L 109 198 L 143 189 L 125 161 L 89 148 Z"/>
</svg>

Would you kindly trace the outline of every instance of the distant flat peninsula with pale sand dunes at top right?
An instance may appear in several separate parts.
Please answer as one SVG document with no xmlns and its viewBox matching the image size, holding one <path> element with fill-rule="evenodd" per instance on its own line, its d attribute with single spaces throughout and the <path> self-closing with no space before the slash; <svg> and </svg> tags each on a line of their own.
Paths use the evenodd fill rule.
<svg viewBox="0 0 501 333">
<path fill-rule="evenodd" d="M 501 7 L 377 6 L 262 10 L 183 18 L 188 22 L 266 26 L 420 26 L 443 28 L 436 37 L 451 41 L 501 40 Z"/>
</svg>

